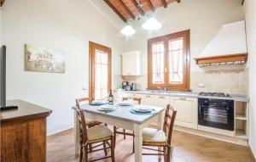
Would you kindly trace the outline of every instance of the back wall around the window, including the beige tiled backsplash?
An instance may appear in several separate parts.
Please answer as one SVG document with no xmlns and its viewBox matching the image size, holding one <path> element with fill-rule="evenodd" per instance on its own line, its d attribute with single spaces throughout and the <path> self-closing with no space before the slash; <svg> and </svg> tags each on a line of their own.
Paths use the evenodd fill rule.
<svg viewBox="0 0 256 162">
<path fill-rule="evenodd" d="M 195 92 L 247 93 L 245 70 L 222 70 L 214 67 L 213 70 L 220 70 L 209 72 L 196 65 L 194 60 L 222 25 L 244 20 L 241 0 L 183 0 L 181 3 L 172 3 L 168 8 L 156 10 L 154 16 L 163 25 L 160 30 L 145 31 L 141 27 L 142 23 L 131 24 L 135 26 L 137 33 L 125 39 L 126 52 L 133 50 L 143 52 L 143 76 L 135 80 L 139 88 L 147 88 L 148 38 L 190 29 L 191 89 Z M 234 78 L 237 79 L 234 80 Z M 124 79 L 129 80 L 129 78 Z M 199 83 L 205 84 L 206 87 L 197 87 Z"/>
</svg>

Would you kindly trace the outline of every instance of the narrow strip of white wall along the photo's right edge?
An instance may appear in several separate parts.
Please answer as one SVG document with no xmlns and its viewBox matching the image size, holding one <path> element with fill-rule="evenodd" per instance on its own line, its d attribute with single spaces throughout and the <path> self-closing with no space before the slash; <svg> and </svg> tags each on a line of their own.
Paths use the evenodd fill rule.
<svg viewBox="0 0 256 162">
<path fill-rule="evenodd" d="M 249 95 L 250 95 L 250 123 L 249 123 L 249 145 L 256 158 L 256 2 L 245 1 L 246 25 L 247 25 L 247 47 L 249 68 Z"/>
</svg>

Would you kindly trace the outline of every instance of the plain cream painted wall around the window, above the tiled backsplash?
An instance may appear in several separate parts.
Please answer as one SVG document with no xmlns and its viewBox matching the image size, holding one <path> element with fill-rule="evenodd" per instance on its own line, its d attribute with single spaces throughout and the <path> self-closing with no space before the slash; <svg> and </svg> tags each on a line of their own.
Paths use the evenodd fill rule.
<svg viewBox="0 0 256 162">
<path fill-rule="evenodd" d="M 241 0 L 183 0 L 156 10 L 155 17 L 163 27 L 158 31 L 145 31 L 141 24 L 135 24 L 137 33 L 126 39 L 125 49 L 142 50 L 146 57 L 148 38 L 190 29 L 191 70 L 201 70 L 193 58 L 201 53 L 222 25 L 244 20 Z M 145 64 L 143 72 L 147 72 Z"/>
</svg>

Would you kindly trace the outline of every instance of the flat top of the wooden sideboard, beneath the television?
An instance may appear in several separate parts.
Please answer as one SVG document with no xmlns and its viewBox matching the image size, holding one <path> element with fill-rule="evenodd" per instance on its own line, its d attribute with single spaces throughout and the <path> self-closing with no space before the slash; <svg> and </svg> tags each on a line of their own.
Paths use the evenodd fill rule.
<svg viewBox="0 0 256 162">
<path fill-rule="evenodd" d="M 7 105 L 17 105 L 18 109 L 9 109 L 1 111 L 1 123 L 16 120 L 31 120 L 40 117 L 46 117 L 52 110 L 45 109 L 33 103 L 22 100 L 9 100 Z"/>
</svg>

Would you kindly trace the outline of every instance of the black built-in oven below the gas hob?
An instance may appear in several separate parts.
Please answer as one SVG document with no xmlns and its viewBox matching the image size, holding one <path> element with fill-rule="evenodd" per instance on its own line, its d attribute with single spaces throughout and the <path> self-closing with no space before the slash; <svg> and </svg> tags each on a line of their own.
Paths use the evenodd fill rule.
<svg viewBox="0 0 256 162">
<path fill-rule="evenodd" d="M 234 131 L 234 101 L 198 98 L 198 124 Z"/>
</svg>

